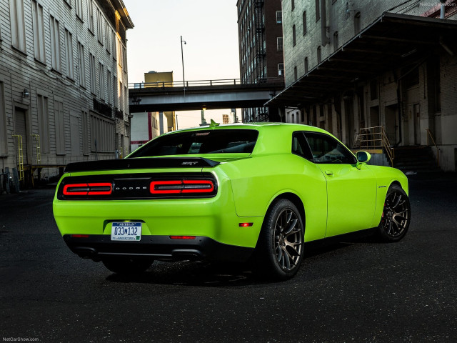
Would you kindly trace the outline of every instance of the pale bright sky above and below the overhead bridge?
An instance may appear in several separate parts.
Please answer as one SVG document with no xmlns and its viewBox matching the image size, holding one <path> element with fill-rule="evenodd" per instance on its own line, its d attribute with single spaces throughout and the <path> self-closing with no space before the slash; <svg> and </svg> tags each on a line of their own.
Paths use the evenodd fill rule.
<svg viewBox="0 0 457 343">
<path fill-rule="evenodd" d="M 239 79 L 236 0 L 124 0 L 134 29 L 127 31 L 129 83 L 148 71 L 173 71 L 186 81 Z M 177 111 L 179 129 L 198 126 L 201 111 Z M 222 122 L 230 109 L 207 110 L 206 121 Z M 237 111 L 238 118 L 241 111 Z"/>
</svg>

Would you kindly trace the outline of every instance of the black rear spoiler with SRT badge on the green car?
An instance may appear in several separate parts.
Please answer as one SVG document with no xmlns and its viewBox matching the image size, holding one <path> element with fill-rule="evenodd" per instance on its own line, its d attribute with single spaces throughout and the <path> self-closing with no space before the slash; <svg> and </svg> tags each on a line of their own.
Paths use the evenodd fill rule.
<svg viewBox="0 0 457 343">
<path fill-rule="evenodd" d="M 203 157 L 156 157 L 148 159 L 104 159 L 101 161 L 85 161 L 69 163 L 65 167 L 66 173 L 95 172 L 98 170 L 120 169 L 153 169 L 153 168 L 191 168 L 213 167 L 218 161 Z"/>
</svg>

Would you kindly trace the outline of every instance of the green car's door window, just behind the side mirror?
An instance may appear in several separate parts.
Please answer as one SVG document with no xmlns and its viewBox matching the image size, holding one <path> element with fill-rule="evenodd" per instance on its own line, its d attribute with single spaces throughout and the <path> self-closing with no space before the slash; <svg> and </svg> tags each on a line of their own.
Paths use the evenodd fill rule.
<svg viewBox="0 0 457 343">
<path fill-rule="evenodd" d="M 306 132 L 315 163 L 356 164 L 356 158 L 339 141 L 327 134 Z"/>
</svg>

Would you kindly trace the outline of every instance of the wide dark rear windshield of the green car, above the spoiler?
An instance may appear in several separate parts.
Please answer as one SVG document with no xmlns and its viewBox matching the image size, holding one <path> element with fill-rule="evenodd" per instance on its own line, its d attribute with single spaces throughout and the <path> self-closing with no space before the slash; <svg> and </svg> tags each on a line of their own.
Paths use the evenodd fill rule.
<svg viewBox="0 0 457 343">
<path fill-rule="evenodd" d="M 257 130 L 249 129 L 201 130 L 166 134 L 150 141 L 129 157 L 251 154 L 257 136 Z"/>
</svg>

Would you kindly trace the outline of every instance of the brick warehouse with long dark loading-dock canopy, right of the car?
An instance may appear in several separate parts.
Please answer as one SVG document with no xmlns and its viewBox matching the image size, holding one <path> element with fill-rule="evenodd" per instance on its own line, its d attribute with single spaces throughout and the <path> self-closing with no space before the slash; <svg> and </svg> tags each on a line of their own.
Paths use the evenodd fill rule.
<svg viewBox="0 0 457 343">
<path fill-rule="evenodd" d="M 433 136 L 441 168 L 456 170 L 457 1 L 283 0 L 282 9 L 286 89 L 268 105 L 283 120 L 348 146 L 373 126 L 393 146 Z"/>
</svg>

